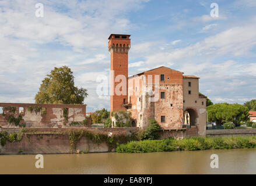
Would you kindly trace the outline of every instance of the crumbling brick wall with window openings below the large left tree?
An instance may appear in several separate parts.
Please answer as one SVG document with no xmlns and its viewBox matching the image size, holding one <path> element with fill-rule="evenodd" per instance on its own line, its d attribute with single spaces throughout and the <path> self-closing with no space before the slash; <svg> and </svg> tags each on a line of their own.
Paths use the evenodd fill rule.
<svg viewBox="0 0 256 186">
<path fill-rule="evenodd" d="M 0 115 L 0 126 L 3 127 L 19 127 L 8 122 L 10 116 L 17 118 L 19 115 L 22 116 L 20 124 L 25 123 L 26 127 L 69 127 L 72 121 L 81 122 L 86 119 L 86 105 L 0 103 L 0 107 L 16 108 L 15 112 L 3 110 Z M 23 112 L 19 113 L 19 108 L 23 108 Z M 67 110 L 66 116 L 64 109 Z M 90 126 L 90 119 L 87 126 Z"/>
</svg>

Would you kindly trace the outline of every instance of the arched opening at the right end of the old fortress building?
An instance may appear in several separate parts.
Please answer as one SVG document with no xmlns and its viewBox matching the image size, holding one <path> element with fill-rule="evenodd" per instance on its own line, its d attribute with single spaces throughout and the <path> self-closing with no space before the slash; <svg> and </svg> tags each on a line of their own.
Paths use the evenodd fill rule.
<svg viewBox="0 0 256 186">
<path fill-rule="evenodd" d="M 198 113 L 195 108 L 186 108 L 183 113 L 183 123 L 187 126 L 197 126 L 198 124 Z"/>
</svg>

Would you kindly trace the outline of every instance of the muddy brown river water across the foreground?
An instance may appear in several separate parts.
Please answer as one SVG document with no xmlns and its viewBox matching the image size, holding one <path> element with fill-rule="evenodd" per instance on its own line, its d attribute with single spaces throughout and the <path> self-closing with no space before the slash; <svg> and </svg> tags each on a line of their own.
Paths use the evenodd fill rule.
<svg viewBox="0 0 256 186">
<path fill-rule="evenodd" d="M 210 166 L 212 154 L 218 169 Z M 43 156 L 37 169 L 36 155 L 0 155 L 0 174 L 256 174 L 256 149 Z"/>
</svg>

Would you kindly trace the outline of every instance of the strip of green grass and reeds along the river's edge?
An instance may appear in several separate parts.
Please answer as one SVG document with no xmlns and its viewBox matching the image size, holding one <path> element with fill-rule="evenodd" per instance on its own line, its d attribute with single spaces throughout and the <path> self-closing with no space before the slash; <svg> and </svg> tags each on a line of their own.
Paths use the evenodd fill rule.
<svg viewBox="0 0 256 186">
<path fill-rule="evenodd" d="M 116 151 L 120 153 L 144 153 L 236 148 L 256 148 L 256 137 L 192 137 L 183 140 L 169 138 L 164 140 L 131 141 L 127 144 L 118 145 Z"/>
</svg>

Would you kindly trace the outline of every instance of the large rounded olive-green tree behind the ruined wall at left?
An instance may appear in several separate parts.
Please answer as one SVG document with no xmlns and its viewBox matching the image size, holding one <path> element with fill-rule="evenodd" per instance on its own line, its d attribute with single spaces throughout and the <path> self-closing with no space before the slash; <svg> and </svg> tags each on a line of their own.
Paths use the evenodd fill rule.
<svg viewBox="0 0 256 186">
<path fill-rule="evenodd" d="M 87 90 L 75 87 L 73 72 L 68 66 L 54 67 L 46 76 L 34 98 L 36 103 L 83 104 Z"/>
</svg>

